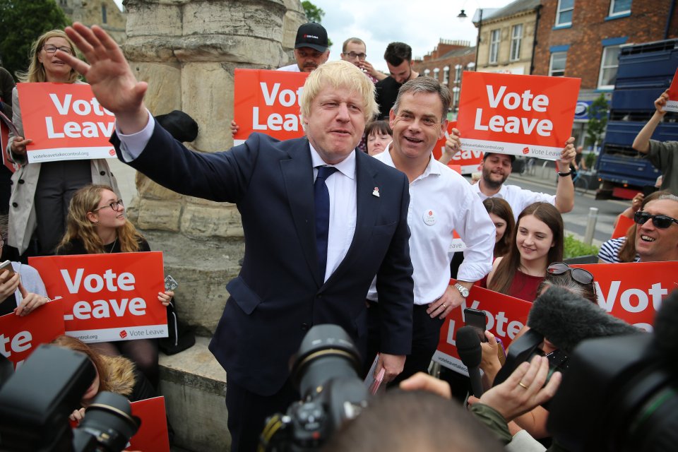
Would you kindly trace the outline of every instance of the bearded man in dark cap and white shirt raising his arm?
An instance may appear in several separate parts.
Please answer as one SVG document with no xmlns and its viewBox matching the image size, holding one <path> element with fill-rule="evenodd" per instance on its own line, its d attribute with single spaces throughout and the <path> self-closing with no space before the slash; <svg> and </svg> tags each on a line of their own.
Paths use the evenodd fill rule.
<svg viewBox="0 0 678 452">
<path fill-rule="evenodd" d="M 570 171 L 570 163 L 576 157 L 576 151 L 572 143 L 574 143 L 574 138 L 570 137 L 565 142 L 560 160 L 556 162 L 558 187 L 555 195 L 521 189 L 517 185 L 504 184 L 511 174 L 513 160 L 516 160 L 516 156 L 495 153 L 485 153 L 482 157 L 480 164 L 482 177 L 477 184 L 472 186 L 473 190 L 483 201 L 494 196 L 505 199 L 511 206 L 516 221 L 518 221 L 518 215 L 525 207 L 537 202 L 551 203 L 560 213 L 567 213 L 574 207 L 574 184 L 572 183 L 573 174 Z"/>
</svg>

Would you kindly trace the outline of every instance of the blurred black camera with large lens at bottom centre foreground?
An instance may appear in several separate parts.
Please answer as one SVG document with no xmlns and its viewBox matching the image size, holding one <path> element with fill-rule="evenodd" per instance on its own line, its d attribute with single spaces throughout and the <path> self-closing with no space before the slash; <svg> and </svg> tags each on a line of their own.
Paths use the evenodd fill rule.
<svg viewBox="0 0 678 452">
<path fill-rule="evenodd" d="M 290 359 L 302 400 L 266 420 L 259 451 L 317 451 L 346 420 L 367 408 L 369 392 L 351 338 L 340 326 L 317 325 Z"/>
</svg>

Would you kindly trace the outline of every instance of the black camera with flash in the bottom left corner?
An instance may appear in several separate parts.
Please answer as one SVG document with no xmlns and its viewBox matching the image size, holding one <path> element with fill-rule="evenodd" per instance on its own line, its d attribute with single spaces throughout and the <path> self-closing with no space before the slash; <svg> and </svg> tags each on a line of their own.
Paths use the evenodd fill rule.
<svg viewBox="0 0 678 452">
<path fill-rule="evenodd" d="M 80 425 L 69 425 L 69 415 L 81 407 L 95 376 L 83 353 L 37 347 L 0 388 L 0 450 L 122 451 L 141 424 L 123 396 L 100 393 Z"/>
</svg>

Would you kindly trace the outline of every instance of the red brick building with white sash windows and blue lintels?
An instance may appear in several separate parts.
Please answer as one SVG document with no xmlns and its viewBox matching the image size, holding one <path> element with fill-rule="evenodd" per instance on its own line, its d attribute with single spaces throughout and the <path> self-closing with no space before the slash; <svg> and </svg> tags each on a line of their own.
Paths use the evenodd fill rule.
<svg viewBox="0 0 678 452">
<path fill-rule="evenodd" d="M 542 0 L 533 74 L 581 78 L 579 102 L 588 105 L 617 76 L 619 47 L 678 37 L 676 0 Z M 583 144 L 588 117 L 575 119 Z"/>
</svg>

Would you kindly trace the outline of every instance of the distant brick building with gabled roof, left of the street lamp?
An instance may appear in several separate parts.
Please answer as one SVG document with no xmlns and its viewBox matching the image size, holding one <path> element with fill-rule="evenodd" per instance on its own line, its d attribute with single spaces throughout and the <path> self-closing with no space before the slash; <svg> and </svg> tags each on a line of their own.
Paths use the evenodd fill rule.
<svg viewBox="0 0 678 452">
<path fill-rule="evenodd" d="M 426 76 L 436 78 L 447 85 L 452 92 L 450 105 L 453 119 L 459 105 L 461 77 L 463 71 L 472 71 L 475 66 L 475 47 L 468 41 L 451 41 L 441 39 L 438 45 L 424 58 L 412 60 L 412 69 Z"/>
</svg>

